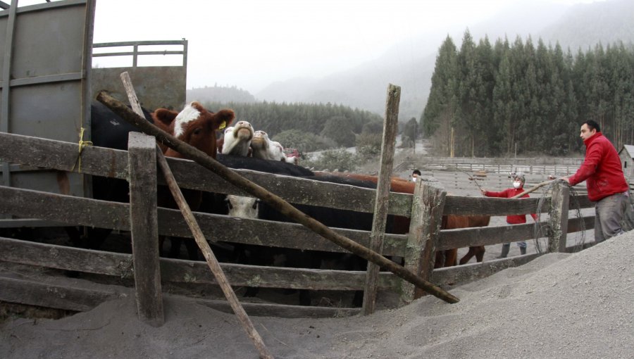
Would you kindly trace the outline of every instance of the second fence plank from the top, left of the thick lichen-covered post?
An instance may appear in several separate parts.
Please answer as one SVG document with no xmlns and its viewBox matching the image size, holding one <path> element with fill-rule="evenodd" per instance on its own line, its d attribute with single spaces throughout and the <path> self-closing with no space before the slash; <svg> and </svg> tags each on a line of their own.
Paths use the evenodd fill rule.
<svg viewBox="0 0 634 359">
<path fill-rule="evenodd" d="M 23 217 L 42 218 L 92 227 L 130 230 L 129 205 L 63 196 L 28 189 L 0 186 L 0 211 Z M 50 208 L 56 208 L 51 211 Z M 312 251 L 344 250 L 319 237 L 302 225 L 265 220 L 232 218 L 226 215 L 194 213 L 205 237 L 210 241 L 232 241 L 243 244 L 260 244 Z M 227 229 L 231 228 L 230 231 Z M 354 229 L 336 229 L 342 235 L 368 246 L 369 232 Z M 287 235 L 280 236 L 280 233 Z M 159 208 L 159 234 L 192 237 L 185 220 L 178 210 Z M 386 256 L 404 256 L 406 237 L 387 234 L 384 241 Z"/>
</svg>

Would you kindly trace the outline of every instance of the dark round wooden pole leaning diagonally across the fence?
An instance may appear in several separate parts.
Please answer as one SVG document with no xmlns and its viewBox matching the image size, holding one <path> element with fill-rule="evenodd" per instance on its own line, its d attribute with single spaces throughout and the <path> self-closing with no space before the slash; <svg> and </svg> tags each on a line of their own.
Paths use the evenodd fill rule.
<svg viewBox="0 0 634 359">
<path fill-rule="evenodd" d="M 247 180 L 246 178 L 238 175 L 236 172 L 232 171 L 230 168 L 225 167 L 224 165 L 218 163 L 217 160 L 207 156 L 206 153 L 199 151 L 199 149 L 195 149 L 189 144 L 186 144 L 183 141 L 173 137 L 166 132 L 163 132 L 159 127 L 152 125 L 150 122 L 145 120 L 145 118 L 140 117 L 136 113 L 132 112 L 128 106 L 117 101 L 112 96 L 110 96 L 107 92 L 101 91 L 97 95 L 97 100 L 101 103 L 104 103 L 108 108 L 110 108 L 114 113 L 120 115 L 121 118 L 130 122 L 130 124 L 135 125 L 140 130 L 147 134 L 151 134 L 156 137 L 157 141 L 160 141 L 162 144 L 170 147 L 171 149 L 178 151 L 182 156 L 188 158 L 190 160 L 194 160 L 199 165 L 202 165 L 204 168 L 211 170 L 216 173 L 216 175 L 223 178 L 223 180 L 229 182 L 234 185 L 238 189 L 242 189 L 252 196 L 261 199 L 268 203 L 273 209 L 278 210 L 282 215 L 285 215 L 287 218 L 290 218 L 305 227 L 308 227 L 316 234 L 319 234 L 321 237 L 328 239 L 329 241 L 334 242 L 338 246 L 341 246 L 344 249 L 364 258 L 372 263 L 379 265 L 380 267 L 389 270 L 394 273 L 398 277 L 405 279 L 407 282 L 414 284 L 420 289 L 436 296 L 437 298 L 442 299 L 443 301 L 447 301 L 448 303 L 457 303 L 459 302 L 459 298 L 445 291 L 444 289 L 436 286 L 430 282 L 427 282 L 425 279 L 415 275 L 414 273 L 406 270 L 401 265 L 397 265 L 396 263 L 388 260 L 387 258 L 381 256 L 375 251 L 371 251 L 370 249 L 362 246 L 361 244 L 352 241 L 347 237 L 338 234 L 332 229 L 326 227 L 321 222 L 311 218 L 309 215 L 302 213 L 302 211 L 294 208 L 287 201 L 284 201 L 280 196 L 277 196 L 263 187 L 255 184 Z"/>
</svg>

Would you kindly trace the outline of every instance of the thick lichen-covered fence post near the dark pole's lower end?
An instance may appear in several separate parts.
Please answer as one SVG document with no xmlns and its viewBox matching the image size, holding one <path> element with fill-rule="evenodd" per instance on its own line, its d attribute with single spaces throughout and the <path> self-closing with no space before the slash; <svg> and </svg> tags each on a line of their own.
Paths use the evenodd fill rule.
<svg viewBox="0 0 634 359">
<path fill-rule="evenodd" d="M 420 177 L 419 177 L 420 178 Z M 445 208 L 445 191 L 440 184 L 430 186 L 423 181 L 416 182 L 411 201 L 411 221 L 407 237 L 405 267 L 416 275 L 430 279 L 434 270 L 436 246 L 440 238 L 442 211 Z M 419 298 L 423 291 L 403 282 L 402 303 L 410 303 Z"/>
</svg>

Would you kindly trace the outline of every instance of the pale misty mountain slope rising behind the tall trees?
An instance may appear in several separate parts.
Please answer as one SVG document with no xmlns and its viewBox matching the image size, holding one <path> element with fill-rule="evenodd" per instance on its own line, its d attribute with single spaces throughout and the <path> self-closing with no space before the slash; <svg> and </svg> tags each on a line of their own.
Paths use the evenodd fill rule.
<svg viewBox="0 0 634 359">
<path fill-rule="evenodd" d="M 340 103 L 383 115 L 387 84 L 392 83 L 402 88 L 399 119 L 418 119 L 427 101 L 440 44 L 449 34 L 456 46 L 460 46 L 466 28 L 409 39 L 395 44 L 380 58 L 321 79 L 275 82 L 258 92 L 256 98 Z M 574 54 L 579 47 L 585 50 L 599 42 L 604 46 L 618 40 L 633 42 L 634 1 L 611 0 L 574 6 L 526 1 L 500 9 L 495 18 L 469 27 L 469 31 L 476 42 L 486 35 L 492 44 L 504 37 L 513 42 L 517 36 L 524 41 L 530 36 L 534 44 L 539 38 L 552 45 L 559 41 L 564 51 L 570 46 Z"/>
</svg>

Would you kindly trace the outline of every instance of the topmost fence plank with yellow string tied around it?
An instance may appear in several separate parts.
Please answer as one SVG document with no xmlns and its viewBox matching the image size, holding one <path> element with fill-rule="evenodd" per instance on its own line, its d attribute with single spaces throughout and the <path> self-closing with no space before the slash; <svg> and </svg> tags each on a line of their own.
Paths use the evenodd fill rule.
<svg viewBox="0 0 634 359">
<path fill-rule="evenodd" d="M 28 148 L 30 151 L 14 151 Z M 77 144 L 41 139 L 37 137 L 0 132 L 0 159 L 35 167 L 70 171 L 77 160 Z M 244 194 L 201 165 L 191 160 L 168 158 L 174 177 L 182 188 L 200 189 L 225 194 Z M 375 190 L 306 180 L 302 178 L 272 175 L 251 170 L 235 170 L 249 180 L 273 191 L 290 203 L 310 203 L 315 206 L 340 208 L 371 213 Z M 128 151 L 88 146 L 82 151 L 82 173 L 128 179 Z M 162 178 L 160 184 L 165 184 Z M 411 195 L 392 194 L 390 214 L 408 215 Z"/>
</svg>

